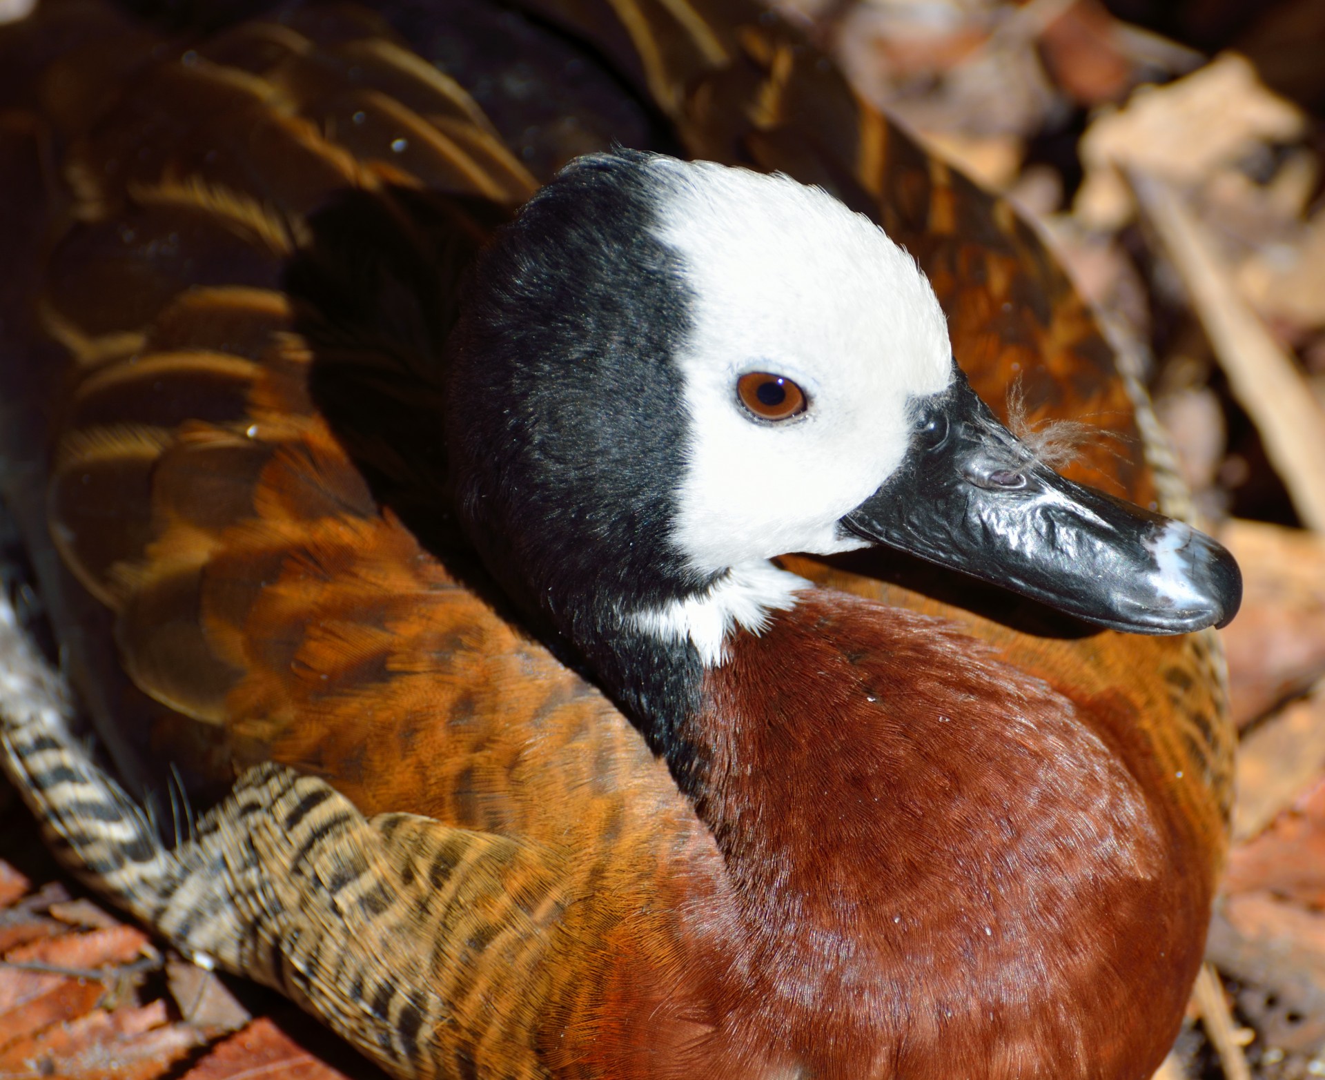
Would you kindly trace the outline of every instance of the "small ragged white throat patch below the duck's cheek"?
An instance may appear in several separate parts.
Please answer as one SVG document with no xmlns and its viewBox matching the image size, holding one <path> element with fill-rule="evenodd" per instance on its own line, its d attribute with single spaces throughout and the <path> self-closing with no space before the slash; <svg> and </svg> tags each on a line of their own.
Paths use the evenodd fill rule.
<svg viewBox="0 0 1325 1080">
<path fill-rule="evenodd" d="M 629 620 L 662 641 L 690 641 L 704 667 L 716 668 L 727 660 L 727 641 L 738 628 L 763 633 L 770 612 L 790 611 L 807 588 L 814 584 L 761 561 L 733 567 L 701 596 L 636 611 Z"/>
</svg>

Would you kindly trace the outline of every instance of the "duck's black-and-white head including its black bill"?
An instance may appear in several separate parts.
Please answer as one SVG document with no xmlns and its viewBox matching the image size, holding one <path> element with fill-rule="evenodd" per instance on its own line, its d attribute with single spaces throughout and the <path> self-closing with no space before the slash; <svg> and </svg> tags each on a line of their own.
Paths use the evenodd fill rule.
<svg viewBox="0 0 1325 1080">
<path fill-rule="evenodd" d="M 767 559 L 868 545 L 1122 631 L 1239 604 L 1216 542 L 999 424 L 914 260 L 786 176 L 574 162 L 478 260 L 450 372 L 466 526 L 582 653 L 644 629 L 718 663 L 804 587 Z"/>
</svg>

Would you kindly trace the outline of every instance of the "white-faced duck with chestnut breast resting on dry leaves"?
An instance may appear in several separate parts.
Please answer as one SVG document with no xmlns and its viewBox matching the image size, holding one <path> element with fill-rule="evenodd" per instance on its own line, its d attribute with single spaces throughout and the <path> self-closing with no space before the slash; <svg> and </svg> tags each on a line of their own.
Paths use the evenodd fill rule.
<svg viewBox="0 0 1325 1080">
<path fill-rule="evenodd" d="M 1142 431 L 1136 380 L 775 17 L 531 9 L 458 8 L 697 160 L 504 140 L 409 5 L 0 40 L 5 496 L 105 750 L 11 672 L 9 775 L 396 1076 L 1149 1076 L 1236 565 L 1158 451 L 1085 486 L 977 392 Z"/>
</svg>

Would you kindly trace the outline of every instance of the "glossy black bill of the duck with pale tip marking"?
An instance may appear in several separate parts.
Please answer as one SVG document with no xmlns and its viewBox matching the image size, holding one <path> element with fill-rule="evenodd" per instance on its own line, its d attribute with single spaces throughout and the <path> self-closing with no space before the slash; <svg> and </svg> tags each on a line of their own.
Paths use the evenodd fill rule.
<svg viewBox="0 0 1325 1080">
<path fill-rule="evenodd" d="M 1222 627 L 1242 602 L 1224 547 L 1037 462 L 961 371 L 921 405 L 897 472 L 843 525 L 1113 629 Z"/>
</svg>

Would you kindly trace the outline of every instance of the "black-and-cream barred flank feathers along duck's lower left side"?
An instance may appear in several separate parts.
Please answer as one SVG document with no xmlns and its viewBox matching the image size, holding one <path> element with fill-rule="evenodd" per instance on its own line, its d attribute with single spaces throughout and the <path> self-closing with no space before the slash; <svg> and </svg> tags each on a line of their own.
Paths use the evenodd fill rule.
<svg viewBox="0 0 1325 1080">
<path fill-rule="evenodd" d="M 474 1015 L 506 997 L 502 982 L 539 982 L 564 906 L 545 852 L 408 814 L 366 819 L 278 765 L 245 773 L 167 849 L 70 734 L 69 701 L 0 592 L 0 763 L 89 887 L 196 962 L 281 990 L 396 1076 L 494 1051 L 506 1076 L 545 1075 L 527 1024 Z M 506 978 L 473 985 L 478 950 Z"/>
</svg>

